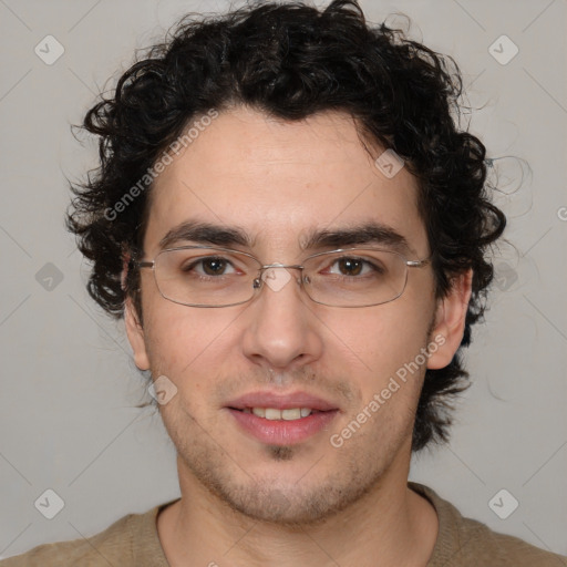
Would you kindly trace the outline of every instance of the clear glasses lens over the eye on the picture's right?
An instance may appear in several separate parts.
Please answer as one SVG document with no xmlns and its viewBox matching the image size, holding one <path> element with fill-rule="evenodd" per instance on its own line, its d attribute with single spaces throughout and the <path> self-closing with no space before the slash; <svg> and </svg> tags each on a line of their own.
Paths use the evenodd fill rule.
<svg viewBox="0 0 567 567">
<path fill-rule="evenodd" d="M 309 297 L 332 307 L 368 307 L 400 297 L 408 279 L 405 259 L 393 251 L 350 249 L 303 262 Z"/>
</svg>

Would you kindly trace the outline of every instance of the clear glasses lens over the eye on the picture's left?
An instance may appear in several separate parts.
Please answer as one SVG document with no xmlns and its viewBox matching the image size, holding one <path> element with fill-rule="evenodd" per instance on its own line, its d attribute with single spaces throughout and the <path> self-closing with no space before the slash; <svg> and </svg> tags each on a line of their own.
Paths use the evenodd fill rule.
<svg viewBox="0 0 567 567">
<path fill-rule="evenodd" d="M 162 296 L 188 306 L 227 307 L 248 301 L 260 265 L 219 248 L 177 248 L 157 255 L 155 278 Z"/>
</svg>

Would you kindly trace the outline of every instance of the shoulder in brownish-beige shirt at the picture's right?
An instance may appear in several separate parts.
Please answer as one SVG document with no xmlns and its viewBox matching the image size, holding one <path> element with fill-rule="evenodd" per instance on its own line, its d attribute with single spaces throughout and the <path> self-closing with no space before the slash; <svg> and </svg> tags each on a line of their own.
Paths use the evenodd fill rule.
<svg viewBox="0 0 567 567">
<path fill-rule="evenodd" d="M 427 486 L 409 483 L 427 498 L 439 517 L 439 535 L 427 567 L 567 567 L 567 557 L 535 547 L 523 539 L 492 530 L 476 519 L 466 518 Z"/>
</svg>

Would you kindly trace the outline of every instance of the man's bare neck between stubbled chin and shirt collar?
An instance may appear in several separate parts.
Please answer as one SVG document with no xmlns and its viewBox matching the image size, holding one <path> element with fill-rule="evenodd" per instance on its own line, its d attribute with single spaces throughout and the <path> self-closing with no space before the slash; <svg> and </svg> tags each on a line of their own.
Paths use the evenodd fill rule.
<svg viewBox="0 0 567 567">
<path fill-rule="evenodd" d="M 182 472 L 179 460 L 178 465 Z M 437 517 L 433 506 L 408 487 L 408 472 L 409 464 L 405 473 L 392 468 L 349 508 L 297 526 L 245 516 L 193 475 L 179 474 L 182 499 L 159 514 L 159 539 L 172 567 L 425 567 Z"/>
</svg>

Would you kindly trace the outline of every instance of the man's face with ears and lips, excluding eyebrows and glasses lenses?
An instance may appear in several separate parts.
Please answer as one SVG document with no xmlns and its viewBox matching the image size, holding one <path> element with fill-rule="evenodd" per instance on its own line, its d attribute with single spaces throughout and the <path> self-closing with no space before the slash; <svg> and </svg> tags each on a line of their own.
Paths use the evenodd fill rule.
<svg viewBox="0 0 567 567">
<path fill-rule="evenodd" d="M 404 168 L 392 178 L 377 168 L 344 114 L 284 123 L 235 109 L 158 177 L 145 259 L 189 221 L 240 230 L 248 244 L 224 246 L 264 265 L 301 264 L 340 247 L 302 249 L 309 235 L 370 223 L 403 236 L 408 259 L 423 259 L 430 249 L 416 190 Z M 409 269 L 394 301 L 336 308 L 312 302 L 289 274 L 281 288 L 264 286 L 248 303 L 207 309 L 164 299 L 152 270 L 142 269 L 144 324 L 128 302 L 126 326 L 138 368 L 177 388 L 159 411 L 178 453 L 182 492 L 204 487 L 250 517 L 306 524 L 381 484 L 405 484 L 425 368 L 451 361 L 468 291 L 464 279 L 435 301 L 427 265 Z M 404 364 L 413 370 L 402 381 Z M 271 421 L 247 408 L 319 411 Z"/>
</svg>

